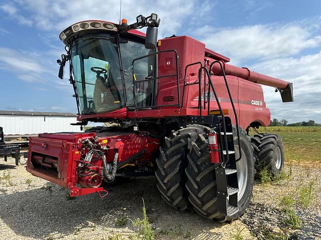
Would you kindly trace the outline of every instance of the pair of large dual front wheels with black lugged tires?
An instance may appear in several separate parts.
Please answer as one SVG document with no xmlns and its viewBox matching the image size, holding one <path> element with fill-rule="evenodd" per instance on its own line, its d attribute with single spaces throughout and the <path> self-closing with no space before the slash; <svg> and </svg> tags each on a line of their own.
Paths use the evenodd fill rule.
<svg viewBox="0 0 321 240">
<path fill-rule="evenodd" d="M 239 128 L 242 152 L 241 159 L 236 163 L 239 210 L 225 217 L 217 209 L 216 176 L 208 149 L 209 130 L 203 125 L 188 125 L 165 139 L 156 160 L 157 187 L 163 199 L 175 208 L 185 210 L 191 205 L 206 218 L 232 221 L 245 212 L 252 196 L 255 174 L 253 147 L 246 131 Z M 239 146 L 235 126 L 233 135 L 237 158 Z"/>
</svg>

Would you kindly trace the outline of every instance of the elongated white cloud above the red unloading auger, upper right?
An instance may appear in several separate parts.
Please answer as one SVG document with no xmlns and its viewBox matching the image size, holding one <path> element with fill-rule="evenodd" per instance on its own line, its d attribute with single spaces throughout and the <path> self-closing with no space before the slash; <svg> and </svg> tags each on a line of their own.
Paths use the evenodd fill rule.
<svg viewBox="0 0 321 240">
<path fill-rule="evenodd" d="M 309 26 L 310 27 L 310 26 Z M 246 25 L 215 29 L 204 26 L 196 33 L 207 47 L 231 57 L 234 63 L 250 59 L 285 57 L 321 45 L 321 35 L 311 28 L 290 23 L 285 25 Z"/>
</svg>

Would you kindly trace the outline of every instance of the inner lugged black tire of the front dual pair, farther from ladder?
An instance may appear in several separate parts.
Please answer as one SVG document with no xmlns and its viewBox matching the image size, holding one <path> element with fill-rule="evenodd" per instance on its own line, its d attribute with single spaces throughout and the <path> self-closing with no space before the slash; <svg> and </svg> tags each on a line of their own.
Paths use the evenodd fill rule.
<svg viewBox="0 0 321 240">
<path fill-rule="evenodd" d="M 165 137 L 165 143 L 159 147 L 160 154 L 156 159 L 155 172 L 157 188 L 165 202 L 181 211 L 187 209 L 189 205 L 185 187 L 186 155 L 189 153 L 191 143 L 197 139 L 198 133 L 203 131 L 204 126 L 188 125 Z"/>
</svg>

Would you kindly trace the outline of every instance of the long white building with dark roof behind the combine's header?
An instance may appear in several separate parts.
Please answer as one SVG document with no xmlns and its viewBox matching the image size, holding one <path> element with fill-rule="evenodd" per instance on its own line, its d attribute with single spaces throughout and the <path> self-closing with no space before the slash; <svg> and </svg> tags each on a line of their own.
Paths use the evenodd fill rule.
<svg viewBox="0 0 321 240">
<path fill-rule="evenodd" d="M 79 132 L 76 114 L 68 112 L 0 110 L 0 126 L 6 135 L 37 135 L 44 132 Z"/>
</svg>

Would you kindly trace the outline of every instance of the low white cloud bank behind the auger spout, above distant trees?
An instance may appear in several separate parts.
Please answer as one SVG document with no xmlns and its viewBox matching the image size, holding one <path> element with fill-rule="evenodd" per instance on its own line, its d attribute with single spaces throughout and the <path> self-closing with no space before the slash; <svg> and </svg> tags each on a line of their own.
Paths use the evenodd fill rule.
<svg viewBox="0 0 321 240">
<path fill-rule="evenodd" d="M 258 72 L 293 82 L 294 102 L 282 103 L 272 87 L 263 87 L 272 117 L 289 122 L 321 122 L 321 52 L 301 57 L 285 57 L 262 61 L 250 66 Z"/>
</svg>

